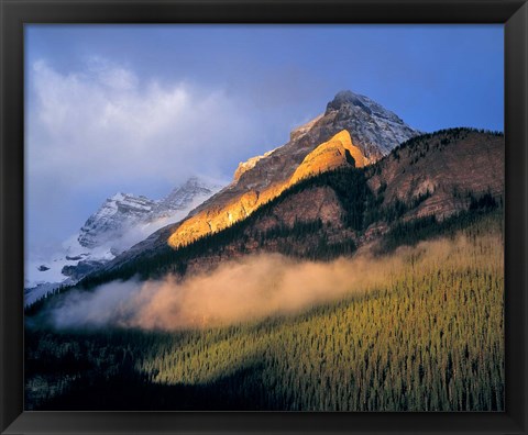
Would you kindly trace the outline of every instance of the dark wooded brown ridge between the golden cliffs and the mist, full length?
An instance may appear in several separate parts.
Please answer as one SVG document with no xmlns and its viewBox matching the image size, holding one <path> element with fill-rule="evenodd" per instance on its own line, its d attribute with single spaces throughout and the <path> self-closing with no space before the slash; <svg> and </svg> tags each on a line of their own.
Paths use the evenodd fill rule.
<svg viewBox="0 0 528 435">
<path fill-rule="evenodd" d="M 345 149 L 346 137 L 340 133 L 320 146 Z M 258 252 L 330 259 L 366 245 L 387 249 L 476 219 L 503 202 L 502 133 L 451 129 L 414 137 L 372 165 L 343 161 L 301 178 L 248 217 L 191 244 L 169 247 L 170 234 L 163 228 L 84 285 L 136 274 L 195 274 Z"/>
</svg>

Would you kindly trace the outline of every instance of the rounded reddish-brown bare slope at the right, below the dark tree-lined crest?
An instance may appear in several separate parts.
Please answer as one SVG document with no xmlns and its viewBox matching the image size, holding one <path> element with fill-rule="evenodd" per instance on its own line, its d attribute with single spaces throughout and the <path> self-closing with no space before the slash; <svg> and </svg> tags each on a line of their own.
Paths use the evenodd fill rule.
<svg viewBox="0 0 528 435">
<path fill-rule="evenodd" d="M 407 217 L 443 219 L 469 207 L 469 192 L 503 196 L 504 161 L 502 134 L 451 129 L 403 144 L 370 171 L 369 186 L 383 191 L 382 205 L 421 198 Z"/>
</svg>

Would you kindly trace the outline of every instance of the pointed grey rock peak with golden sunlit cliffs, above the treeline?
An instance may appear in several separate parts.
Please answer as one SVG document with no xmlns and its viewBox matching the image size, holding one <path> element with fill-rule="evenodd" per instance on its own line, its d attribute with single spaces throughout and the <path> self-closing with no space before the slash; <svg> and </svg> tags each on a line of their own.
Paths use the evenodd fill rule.
<svg viewBox="0 0 528 435">
<path fill-rule="evenodd" d="M 231 185 L 197 208 L 191 217 L 162 232 L 165 239 L 160 244 L 166 242 L 167 233 L 170 246 L 189 244 L 246 217 L 310 174 L 333 169 L 346 157 L 363 167 L 418 133 L 369 98 L 339 92 L 324 114 L 294 130 L 288 143 L 241 163 Z"/>
</svg>

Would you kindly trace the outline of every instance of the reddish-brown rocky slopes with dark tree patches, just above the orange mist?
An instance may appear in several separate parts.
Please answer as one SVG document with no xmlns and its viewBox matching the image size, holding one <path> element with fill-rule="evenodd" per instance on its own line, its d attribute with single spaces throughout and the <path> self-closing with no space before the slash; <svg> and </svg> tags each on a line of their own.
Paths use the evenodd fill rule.
<svg viewBox="0 0 528 435">
<path fill-rule="evenodd" d="M 442 222 L 471 210 L 485 196 L 498 204 L 504 196 L 504 136 L 469 130 L 426 135 L 365 167 L 363 174 L 371 205 L 363 210 L 359 227 L 345 219 L 349 211 L 341 189 L 310 185 L 308 179 L 307 188 L 288 190 L 265 212 L 255 212 L 257 217 L 232 242 L 190 258 L 185 274 L 208 271 L 260 252 L 300 257 L 320 253 L 314 255 L 324 258 L 336 249 L 343 255 L 380 243 L 399 223 L 426 216 Z M 369 217 L 372 212 L 377 217 Z M 296 227 L 302 225 L 298 237 Z"/>
</svg>

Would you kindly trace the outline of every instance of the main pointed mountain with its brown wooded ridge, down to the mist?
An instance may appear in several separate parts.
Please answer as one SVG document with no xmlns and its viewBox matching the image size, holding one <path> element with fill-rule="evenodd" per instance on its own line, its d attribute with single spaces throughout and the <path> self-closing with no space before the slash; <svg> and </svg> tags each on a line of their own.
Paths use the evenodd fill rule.
<svg viewBox="0 0 528 435">
<path fill-rule="evenodd" d="M 340 92 L 287 144 L 240 164 L 229 186 L 82 285 L 183 276 L 257 252 L 330 259 L 364 245 L 386 249 L 499 208 L 503 194 L 502 133 L 419 134 L 366 97 Z"/>
</svg>

